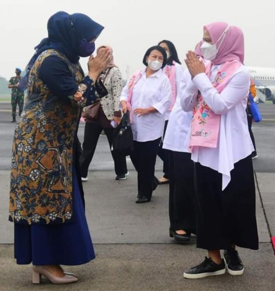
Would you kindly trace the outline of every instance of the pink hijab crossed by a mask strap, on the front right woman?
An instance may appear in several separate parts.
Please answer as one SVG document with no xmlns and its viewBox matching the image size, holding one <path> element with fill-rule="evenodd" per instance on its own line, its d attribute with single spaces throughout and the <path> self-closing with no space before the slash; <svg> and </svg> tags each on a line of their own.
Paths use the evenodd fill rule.
<svg viewBox="0 0 275 291">
<path fill-rule="evenodd" d="M 213 22 L 203 27 L 208 30 L 212 39 L 212 43 L 216 44 L 219 37 L 225 31 L 228 24 L 226 22 Z M 226 36 L 218 49 L 216 58 L 211 61 L 214 65 L 220 65 L 226 62 L 237 60 L 243 64 L 244 60 L 244 38 L 243 32 L 236 26 L 230 26 L 226 32 Z"/>
</svg>

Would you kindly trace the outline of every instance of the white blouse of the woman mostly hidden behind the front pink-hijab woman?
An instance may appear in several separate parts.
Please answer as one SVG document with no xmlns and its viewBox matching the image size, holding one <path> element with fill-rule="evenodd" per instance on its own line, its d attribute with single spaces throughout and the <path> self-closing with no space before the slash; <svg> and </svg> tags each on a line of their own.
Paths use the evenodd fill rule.
<svg viewBox="0 0 275 291">
<path fill-rule="evenodd" d="M 182 74 L 181 80 L 178 82 L 177 96 L 179 96 L 181 92 L 184 92 L 186 83 L 189 80 L 191 80 L 191 76 L 188 70 L 185 70 Z M 183 111 L 180 104 L 180 98 L 177 97 L 174 108 L 170 114 L 162 147 L 177 152 L 190 152 L 188 145 L 185 145 L 185 140 L 191 121 L 192 111 Z"/>
</svg>

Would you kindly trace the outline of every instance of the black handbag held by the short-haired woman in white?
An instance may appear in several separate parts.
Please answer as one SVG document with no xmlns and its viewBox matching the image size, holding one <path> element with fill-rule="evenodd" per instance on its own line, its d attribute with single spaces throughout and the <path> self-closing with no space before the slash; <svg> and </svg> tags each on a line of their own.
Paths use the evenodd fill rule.
<svg viewBox="0 0 275 291">
<path fill-rule="evenodd" d="M 112 150 L 122 156 L 128 156 L 134 150 L 129 111 L 122 116 L 120 124 L 114 129 Z"/>
</svg>

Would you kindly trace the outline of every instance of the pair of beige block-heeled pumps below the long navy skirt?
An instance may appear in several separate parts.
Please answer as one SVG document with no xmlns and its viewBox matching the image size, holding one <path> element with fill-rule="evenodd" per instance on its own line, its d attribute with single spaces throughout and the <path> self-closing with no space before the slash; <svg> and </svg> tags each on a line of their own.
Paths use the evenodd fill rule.
<svg viewBox="0 0 275 291">
<path fill-rule="evenodd" d="M 52 275 L 47 268 L 44 266 L 32 266 L 32 283 L 40 284 L 41 283 L 41 275 L 48 278 L 53 284 L 69 284 L 77 282 L 78 278 L 66 275 L 64 277 L 57 277 Z"/>
</svg>

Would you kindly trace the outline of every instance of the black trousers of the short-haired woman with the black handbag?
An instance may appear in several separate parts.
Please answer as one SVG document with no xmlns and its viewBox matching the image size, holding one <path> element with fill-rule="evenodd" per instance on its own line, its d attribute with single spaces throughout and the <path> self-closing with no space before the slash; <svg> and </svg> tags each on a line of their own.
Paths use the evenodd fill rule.
<svg viewBox="0 0 275 291">
<path fill-rule="evenodd" d="M 155 164 L 161 138 L 149 142 L 134 141 L 130 159 L 138 172 L 138 196 L 152 197 L 154 190 Z"/>
</svg>

